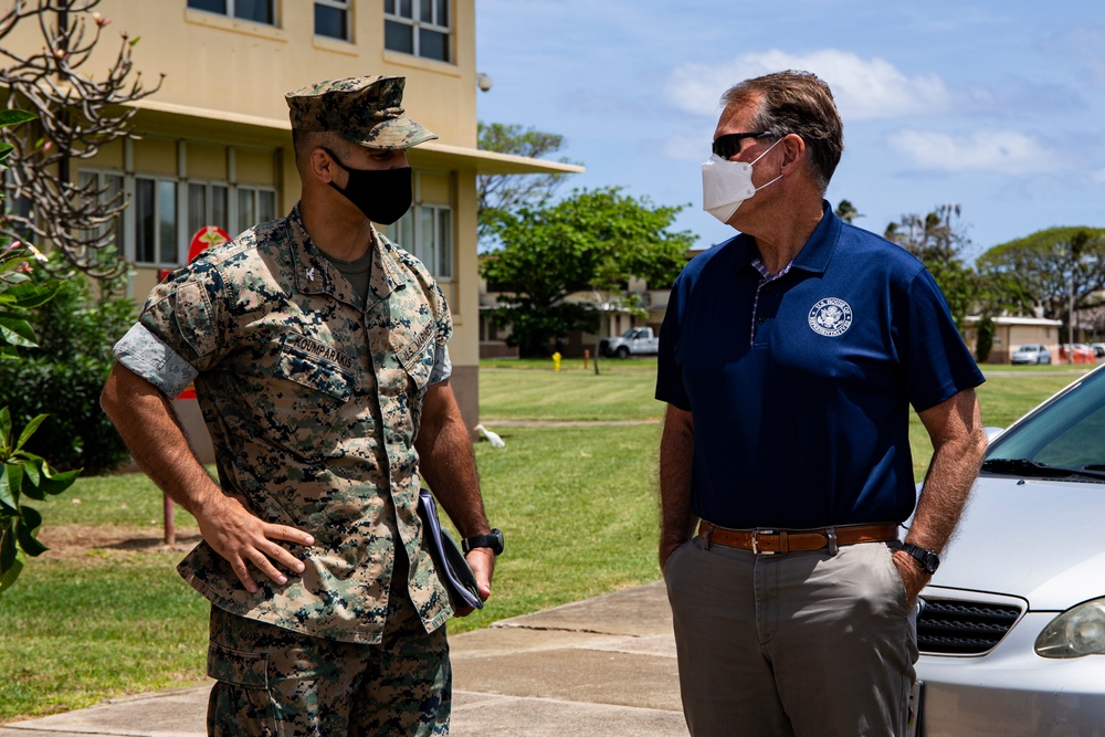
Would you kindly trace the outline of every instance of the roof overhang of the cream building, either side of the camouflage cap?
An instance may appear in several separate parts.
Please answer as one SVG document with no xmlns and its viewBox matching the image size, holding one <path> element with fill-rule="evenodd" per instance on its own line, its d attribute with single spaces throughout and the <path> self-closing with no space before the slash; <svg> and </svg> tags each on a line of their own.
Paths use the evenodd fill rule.
<svg viewBox="0 0 1105 737">
<path fill-rule="evenodd" d="M 210 108 L 176 105 L 154 99 L 141 99 L 134 104 L 138 108 L 136 127 L 157 127 L 199 139 L 214 140 L 223 136 L 235 140 L 261 138 L 269 144 L 273 138 L 283 138 L 292 129 L 287 119 L 244 115 Z M 493 173 L 581 173 L 586 169 L 576 164 L 532 159 L 525 156 L 485 151 L 465 146 L 452 146 L 431 140 L 408 149 L 411 164 L 436 169 L 474 169 L 477 175 Z"/>
</svg>

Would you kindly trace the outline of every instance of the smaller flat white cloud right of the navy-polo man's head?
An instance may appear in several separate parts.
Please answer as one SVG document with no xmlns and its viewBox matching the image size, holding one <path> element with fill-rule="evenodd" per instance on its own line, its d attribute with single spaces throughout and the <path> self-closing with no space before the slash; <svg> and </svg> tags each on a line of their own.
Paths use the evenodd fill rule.
<svg viewBox="0 0 1105 737">
<path fill-rule="evenodd" d="M 932 130 L 902 129 L 887 135 L 893 148 L 929 171 L 996 171 L 1028 173 L 1064 168 L 1060 152 L 1033 136 L 1015 130 L 977 130 L 953 136 Z"/>
</svg>

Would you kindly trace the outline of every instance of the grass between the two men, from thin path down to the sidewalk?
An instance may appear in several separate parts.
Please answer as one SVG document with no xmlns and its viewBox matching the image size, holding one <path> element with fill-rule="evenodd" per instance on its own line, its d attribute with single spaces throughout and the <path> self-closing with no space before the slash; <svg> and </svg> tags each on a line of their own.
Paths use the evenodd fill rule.
<svg viewBox="0 0 1105 737">
<path fill-rule="evenodd" d="M 450 631 L 656 580 L 659 424 L 504 428 L 476 446 L 487 514 L 506 534 L 494 598 Z"/>
</svg>

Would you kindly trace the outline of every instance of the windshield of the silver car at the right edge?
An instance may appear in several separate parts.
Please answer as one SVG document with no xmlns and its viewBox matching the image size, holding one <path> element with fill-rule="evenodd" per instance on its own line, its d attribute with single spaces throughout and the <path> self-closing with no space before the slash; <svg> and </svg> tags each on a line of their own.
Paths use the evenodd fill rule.
<svg viewBox="0 0 1105 737">
<path fill-rule="evenodd" d="M 1105 482 L 1105 371 L 1094 371 L 990 445 L 982 470 Z"/>
</svg>

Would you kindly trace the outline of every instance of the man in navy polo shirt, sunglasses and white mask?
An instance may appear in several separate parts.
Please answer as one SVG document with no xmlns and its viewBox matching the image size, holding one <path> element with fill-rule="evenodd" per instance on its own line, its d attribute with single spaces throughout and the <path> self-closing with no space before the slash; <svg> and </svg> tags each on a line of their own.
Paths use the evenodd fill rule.
<svg viewBox="0 0 1105 737">
<path fill-rule="evenodd" d="M 915 602 L 978 473 L 983 381 L 932 275 L 838 219 L 843 126 L 817 76 L 723 97 L 661 330 L 660 561 L 693 735 L 899 735 Z M 934 455 L 914 522 L 911 406 Z"/>
</svg>

